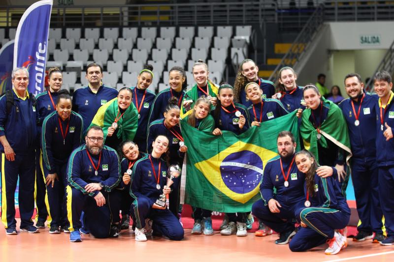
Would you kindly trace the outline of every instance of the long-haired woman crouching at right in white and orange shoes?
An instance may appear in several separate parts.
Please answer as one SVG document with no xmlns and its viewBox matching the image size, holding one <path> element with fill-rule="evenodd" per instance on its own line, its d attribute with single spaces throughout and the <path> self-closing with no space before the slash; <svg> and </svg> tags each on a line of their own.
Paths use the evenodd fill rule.
<svg viewBox="0 0 394 262">
<path fill-rule="evenodd" d="M 296 153 L 296 165 L 305 173 L 306 201 L 305 208 L 297 212 L 302 228 L 290 242 L 290 250 L 305 251 L 328 240 L 326 254 L 335 255 L 347 246 L 346 236 L 335 230 L 345 228 L 350 218 L 349 206 L 335 182 L 337 171 L 332 168 L 332 176 L 319 176 L 318 163 L 307 150 Z"/>
</svg>

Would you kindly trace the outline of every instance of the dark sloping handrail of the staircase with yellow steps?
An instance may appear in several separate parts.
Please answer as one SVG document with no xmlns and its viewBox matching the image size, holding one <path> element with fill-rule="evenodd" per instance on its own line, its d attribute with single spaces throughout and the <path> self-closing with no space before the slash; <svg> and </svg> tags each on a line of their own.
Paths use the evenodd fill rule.
<svg viewBox="0 0 394 262">
<path fill-rule="evenodd" d="M 308 22 L 299 32 L 289 51 L 285 54 L 279 64 L 276 66 L 268 80 L 273 81 L 277 72 L 284 66 L 294 67 L 301 55 L 307 50 L 308 44 L 313 40 L 316 32 L 320 29 L 324 22 L 324 5 L 320 4 L 315 12 L 308 19 Z"/>
</svg>

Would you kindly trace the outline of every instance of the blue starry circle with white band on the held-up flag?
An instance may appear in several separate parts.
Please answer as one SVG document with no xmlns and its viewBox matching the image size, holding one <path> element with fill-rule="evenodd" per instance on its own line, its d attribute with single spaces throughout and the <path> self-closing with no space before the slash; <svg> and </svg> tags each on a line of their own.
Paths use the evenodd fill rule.
<svg viewBox="0 0 394 262">
<path fill-rule="evenodd" d="M 263 175 L 263 161 L 259 155 L 249 150 L 234 152 L 220 164 L 220 174 L 231 191 L 246 194 L 259 185 Z"/>
</svg>

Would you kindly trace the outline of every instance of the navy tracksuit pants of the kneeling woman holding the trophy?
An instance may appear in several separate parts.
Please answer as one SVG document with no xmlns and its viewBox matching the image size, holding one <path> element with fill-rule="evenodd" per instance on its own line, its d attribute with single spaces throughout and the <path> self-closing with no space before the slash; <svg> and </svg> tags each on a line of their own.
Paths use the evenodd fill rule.
<svg viewBox="0 0 394 262">
<path fill-rule="evenodd" d="M 147 197 L 140 196 L 135 199 L 131 205 L 131 213 L 136 222 L 136 228 L 144 228 L 145 219 L 150 218 L 153 220 L 153 232 L 162 234 L 171 240 L 182 240 L 184 230 L 176 216 L 167 208 L 152 208 Z"/>
</svg>

